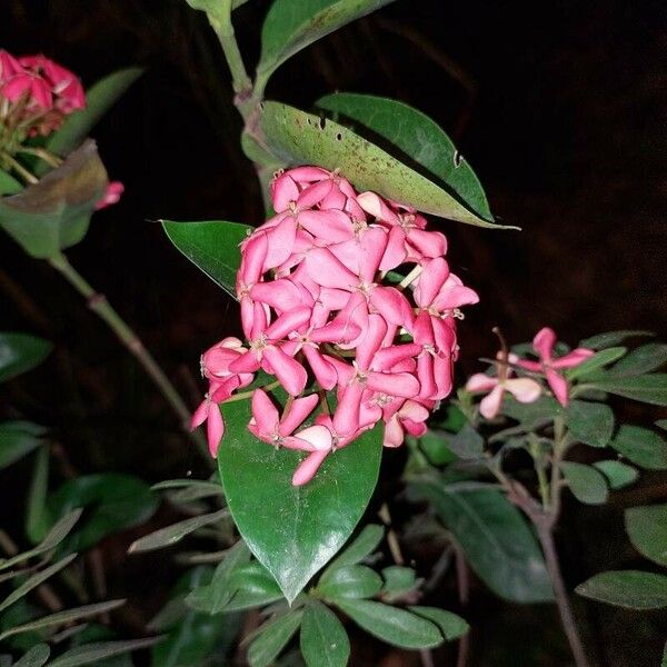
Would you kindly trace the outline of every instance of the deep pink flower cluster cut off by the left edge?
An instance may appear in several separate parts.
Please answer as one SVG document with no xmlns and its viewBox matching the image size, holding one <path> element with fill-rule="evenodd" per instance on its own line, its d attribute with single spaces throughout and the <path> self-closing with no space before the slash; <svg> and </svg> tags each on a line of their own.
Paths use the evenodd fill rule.
<svg viewBox="0 0 667 667">
<path fill-rule="evenodd" d="M 86 107 L 76 74 L 44 56 L 14 58 L 0 50 L 0 122 L 24 136 L 49 135 Z"/>
</svg>

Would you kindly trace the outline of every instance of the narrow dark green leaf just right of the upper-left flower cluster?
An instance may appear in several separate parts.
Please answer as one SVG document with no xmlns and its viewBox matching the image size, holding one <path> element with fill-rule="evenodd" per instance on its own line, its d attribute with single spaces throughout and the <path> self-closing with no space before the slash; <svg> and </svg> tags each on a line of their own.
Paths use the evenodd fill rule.
<svg viewBox="0 0 667 667">
<path fill-rule="evenodd" d="M 47 142 L 49 151 L 66 156 L 78 148 L 102 116 L 141 76 L 142 69 L 130 67 L 100 79 L 86 91 L 86 109 L 67 117 L 62 127 Z"/>
</svg>

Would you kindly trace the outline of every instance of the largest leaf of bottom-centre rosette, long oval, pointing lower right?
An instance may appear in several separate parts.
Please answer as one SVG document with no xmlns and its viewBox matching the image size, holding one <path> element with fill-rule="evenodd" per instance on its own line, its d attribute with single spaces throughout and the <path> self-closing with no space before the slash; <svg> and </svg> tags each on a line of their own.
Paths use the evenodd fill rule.
<svg viewBox="0 0 667 667">
<path fill-rule="evenodd" d="M 432 648 L 442 644 L 437 625 L 400 609 L 371 600 L 336 600 L 358 626 L 374 637 L 401 648 Z"/>
</svg>

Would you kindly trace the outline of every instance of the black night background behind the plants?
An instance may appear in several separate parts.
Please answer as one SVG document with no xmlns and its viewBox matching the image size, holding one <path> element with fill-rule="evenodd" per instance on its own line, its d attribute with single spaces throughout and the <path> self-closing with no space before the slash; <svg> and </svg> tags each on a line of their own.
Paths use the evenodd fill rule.
<svg viewBox="0 0 667 667">
<path fill-rule="evenodd" d="M 236 12 L 248 63 L 267 7 L 250 0 Z M 450 263 L 481 296 L 460 328 L 462 377 L 495 349 L 494 325 L 517 342 L 545 325 L 570 344 L 609 329 L 665 338 L 666 28 L 664 3 L 650 0 L 399 0 L 288 61 L 267 94 L 309 108 L 320 94 L 349 90 L 421 109 L 476 169 L 497 218 L 522 227 L 494 232 L 432 221 L 450 240 Z M 43 51 L 86 84 L 120 67 L 147 68 L 94 131 L 126 195 L 96 216 L 68 255 L 195 405 L 198 356 L 236 330 L 237 311 L 151 220 L 262 220 L 228 73 L 205 17 L 176 0 L 0 0 L 0 47 Z M 46 370 L 12 384 L 9 399 L 59 432 L 68 465 L 151 480 L 198 471 L 133 360 L 50 267 L 7 237 L 0 308 L 2 329 L 58 344 Z M 634 406 L 624 409 L 645 418 Z M 16 490 L 10 480 L 4 488 Z M 1 501 L 18 512 L 22 496 L 8 492 Z M 640 566 L 621 510 L 666 497 L 665 478 L 648 474 L 605 508 L 568 504 L 559 534 L 568 583 Z M 126 558 L 129 539 L 108 545 L 109 578 L 115 595 L 132 597 L 136 623 L 127 624 L 139 631 L 173 573 L 159 556 Z M 479 586 L 472 600 L 474 664 L 567 664 L 550 609 L 508 607 Z M 664 616 L 596 604 L 579 610 L 601 665 L 658 664 Z M 359 664 L 379 660 L 361 656 Z"/>
</svg>

